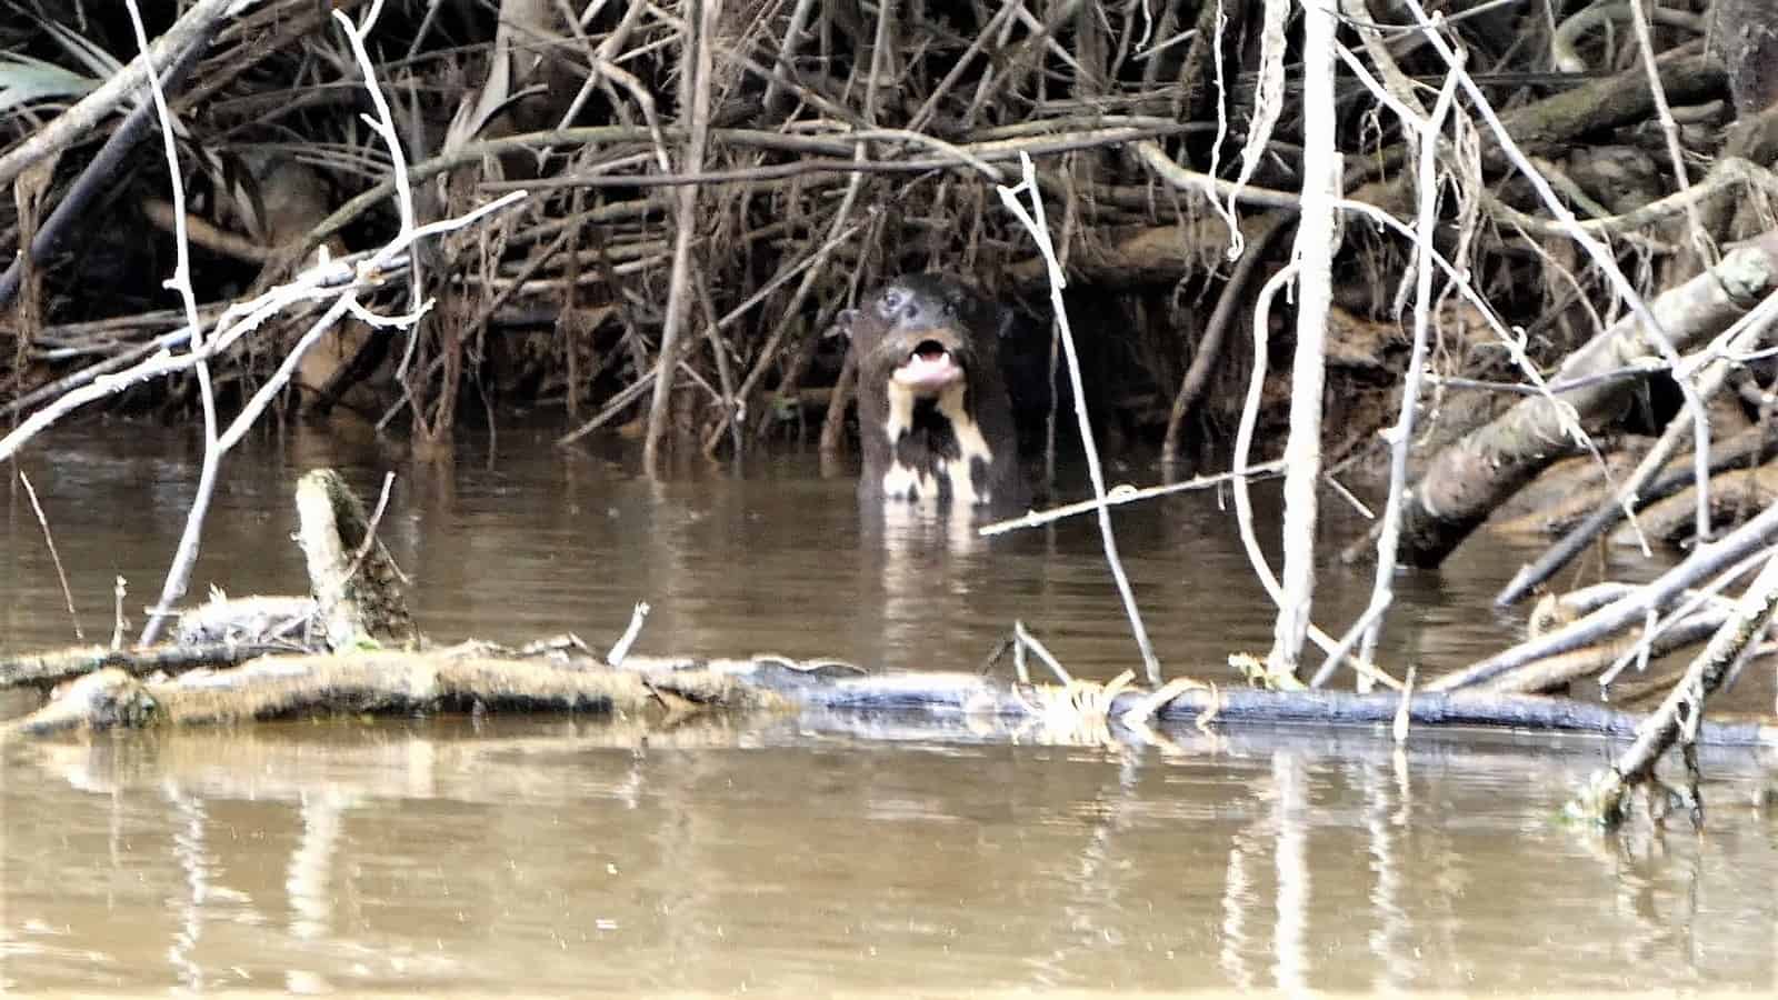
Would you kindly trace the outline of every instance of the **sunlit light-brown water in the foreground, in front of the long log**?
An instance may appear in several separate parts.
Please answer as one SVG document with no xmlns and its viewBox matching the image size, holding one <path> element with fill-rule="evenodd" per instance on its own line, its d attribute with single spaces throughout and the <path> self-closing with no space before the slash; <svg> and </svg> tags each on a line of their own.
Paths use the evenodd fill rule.
<svg viewBox="0 0 1778 1000">
<path fill-rule="evenodd" d="M 1771 984 L 1757 762 L 1716 824 L 1552 822 L 1590 740 L 1394 754 L 791 728 L 288 724 L 7 754 L 14 988 Z M 1764 877 L 1762 877 L 1764 875 Z"/>
</svg>

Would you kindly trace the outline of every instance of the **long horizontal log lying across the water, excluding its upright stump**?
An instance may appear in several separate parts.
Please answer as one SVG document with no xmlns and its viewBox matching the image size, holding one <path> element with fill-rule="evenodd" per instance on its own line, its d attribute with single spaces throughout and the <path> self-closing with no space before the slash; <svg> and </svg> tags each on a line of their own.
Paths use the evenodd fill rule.
<svg viewBox="0 0 1778 1000">
<path fill-rule="evenodd" d="M 103 731 L 144 726 L 219 726 L 311 715 L 411 715 L 425 712 L 592 712 L 635 717 L 688 710 L 859 714 L 914 726 L 949 722 L 1021 724 L 1047 742 L 1081 733 L 1140 737 L 1150 719 L 1166 726 L 1314 724 L 1390 726 L 1403 710 L 1396 694 L 1275 692 L 1179 683 L 1161 692 L 1113 681 L 1028 685 L 958 673 L 862 674 L 857 667 L 782 657 L 734 660 L 637 658 L 606 667 L 594 660 L 514 660 L 485 655 L 366 651 L 265 657 L 220 673 L 140 681 L 100 671 L 69 685 L 41 710 L 0 728 L 4 737 Z M 1415 694 L 1415 726 L 1486 726 L 1632 737 L 1646 717 L 1566 698 Z M 1723 746 L 1778 746 L 1762 721 L 1718 721 L 1700 738 Z"/>
</svg>

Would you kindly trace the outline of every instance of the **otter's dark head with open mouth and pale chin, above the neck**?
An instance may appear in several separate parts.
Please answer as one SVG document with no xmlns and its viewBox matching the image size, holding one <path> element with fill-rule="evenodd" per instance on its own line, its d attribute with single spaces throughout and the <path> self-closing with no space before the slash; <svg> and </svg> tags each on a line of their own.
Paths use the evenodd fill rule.
<svg viewBox="0 0 1778 1000">
<path fill-rule="evenodd" d="M 992 372 L 1010 324 L 1005 308 L 939 274 L 896 278 L 836 320 L 852 336 L 861 383 L 917 399 Z"/>
</svg>

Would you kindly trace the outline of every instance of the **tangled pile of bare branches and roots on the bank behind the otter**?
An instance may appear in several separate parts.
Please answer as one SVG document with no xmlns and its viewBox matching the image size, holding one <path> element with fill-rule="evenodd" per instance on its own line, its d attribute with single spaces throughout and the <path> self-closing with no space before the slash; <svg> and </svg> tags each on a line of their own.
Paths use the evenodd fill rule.
<svg viewBox="0 0 1778 1000">
<path fill-rule="evenodd" d="M 162 4 L 148 21 L 181 130 L 178 181 L 196 196 L 206 319 L 249 286 L 286 279 L 320 246 L 341 256 L 396 228 L 391 158 L 361 116 L 370 98 L 329 7 L 375 18 L 375 82 L 421 222 L 519 187 L 530 198 L 388 276 L 391 311 L 437 308 L 411 336 L 341 326 L 304 358 L 293 406 L 343 404 L 379 425 L 407 423 L 421 445 L 448 445 L 457 415 L 484 402 L 546 406 L 581 429 L 629 422 L 651 448 L 681 432 L 706 452 L 747 448 L 825 407 L 832 445 L 845 347 L 821 333 L 861 286 L 905 270 L 962 272 L 1008 299 L 1042 285 L 1042 262 L 992 190 L 1029 153 L 1060 221 L 1072 301 L 1097 320 L 1083 335 L 1099 416 L 1152 438 L 1165 427 L 1170 456 L 1198 429 L 1232 425 L 1243 361 L 1223 359 L 1221 345 L 1246 322 L 1236 302 L 1253 274 L 1284 256 L 1271 237 L 1287 231 L 1300 187 L 1287 4 Z M 1451 7 L 1444 30 L 1641 288 L 1696 272 L 1712 258 L 1700 247 L 1766 228 L 1769 212 L 1748 192 L 1773 190 L 1771 130 L 1755 114 L 1771 82 L 1757 73 L 1766 43 L 1753 30 L 1771 14 L 1750 0 L 1719 2 L 1714 20 L 1703 4 L 1661 7 L 1645 25 L 1661 53 L 1650 75 L 1623 30 L 1632 4 L 1574 18 L 1566 7 L 1577 5 Z M 4 231 L 39 251 L 0 285 L 14 343 L 0 375 L 16 418 L 75 372 L 176 343 L 181 319 L 156 311 L 171 272 L 169 178 L 135 125 L 148 98 L 126 18 L 12 9 L 21 16 L 0 25 L 0 181 L 14 192 Z M 1406 144 L 1374 114 L 1387 101 L 1358 84 L 1380 78 L 1394 100 L 1424 107 L 1449 66 L 1419 28 L 1389 27 L 1415 25 L 1412 5 L 1346 0 L 1341 11 L 1364 55 L 1339 94 L 1346 190 L 1403 217 Z M 1655 121 L 1650 78 L 1678 121 L 1671 132 Z M 107 80 L 128 85 L 110 93 Z M 64 105 L 75 110 L 52 117 Z M 89 158 L 103 139 L 116 157 Z M 1725 169 L 1687 181 L 1718 157 Z M 1533 363 L 1609 319 L 1609 283 L 1470 117 L 1444 169 L 1456 196 L 1442 205 L 1442 249 L 1526 329 Z M 1232 242 L 1248 254 L 1229 267 Z M 1408 251 L 1357 221 L 1344 247 L 1328 425 L 1351 443 L 1382 422 L 1403 367 Z M 1045 310 L 1029 299 L 1026 347 L 1047 358 Z M 235 349 L 224 393 L 251 393 L 308 317 L 283 322 Z M 1435 363 L 1447 374 L 1518 377 L 1524 358 L 1501 351 L 1499 326 L 1472 306 L 1447 294 L 1438 322 Z M 839 391 L 805 391 L 829 384 Z M 124 402 L 190 399 L 172 379 Z"/>
</svg>

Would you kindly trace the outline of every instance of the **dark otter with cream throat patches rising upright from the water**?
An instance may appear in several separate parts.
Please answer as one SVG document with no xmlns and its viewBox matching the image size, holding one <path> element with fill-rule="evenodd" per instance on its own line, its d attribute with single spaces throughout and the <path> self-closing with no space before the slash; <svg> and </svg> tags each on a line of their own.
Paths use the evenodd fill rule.
<svg viewBox="0 0 1778 1000">
<path fill-rule="evenodd" d="M 909 274 L 839 326 L 857 354 L 861 500 L 999 511 L 1029 502 L 999 363 L 1008 310 L 957 279 Z"/>
</svg>

